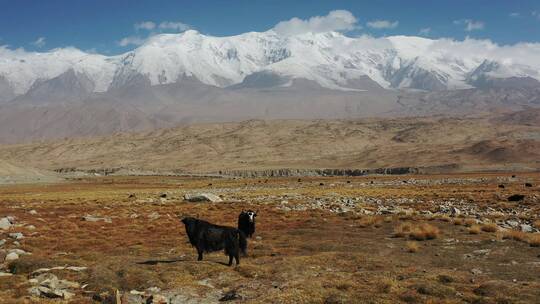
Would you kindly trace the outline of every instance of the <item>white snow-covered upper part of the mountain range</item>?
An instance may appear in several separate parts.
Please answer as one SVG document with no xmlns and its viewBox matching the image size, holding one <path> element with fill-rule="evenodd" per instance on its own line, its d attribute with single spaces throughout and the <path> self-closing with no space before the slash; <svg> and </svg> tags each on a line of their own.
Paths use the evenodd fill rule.
<svg viewBox="0 0 540 304">
<path fill-rule="evenodd" d="M 392 36 L 347 37 L 337 32 L 281 36 L 273 30 L 230 37 L 189 30 L 151 37 L 117 56 L 74 48 L 37 53 L 0 47 L 0 100 L 20 96 L 68 73 L 73 85 L 106 92 L 142 78 L 151 85 L 186 76 L 215 87 L 290 86 L 294 79 L 333 90 L 363 90 L 369 77 L 385 89 L 466 89 L 489 79 L 540 79 L 540 44 L 497 46 L 489 41 Z M 271 75 L 272 77 L 269 77 Z M 267 81 L 268 83 L 265 83 Z M 262 83 L 261 83 L 262 82 Z"/>
</svg>

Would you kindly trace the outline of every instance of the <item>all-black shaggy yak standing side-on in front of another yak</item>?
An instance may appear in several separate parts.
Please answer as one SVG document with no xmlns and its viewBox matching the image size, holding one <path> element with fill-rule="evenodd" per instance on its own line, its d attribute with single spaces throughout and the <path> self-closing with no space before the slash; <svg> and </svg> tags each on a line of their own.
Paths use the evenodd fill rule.
<svg viewBox="0 0 540 304">
<path fill-rule="evenodd" d="M 202 261 L 204 252 L 225 250 L 229 256 L 229 266 L 233 258 L 240 264 L 239 253 L 246 255 L 247 240 L 245 234 L 233 227 L 218 226 L 193 217 L 185 217 L 182 223 L 186 226 L 189 242 L 197 249 L 198 261 Z"/>
</svg>

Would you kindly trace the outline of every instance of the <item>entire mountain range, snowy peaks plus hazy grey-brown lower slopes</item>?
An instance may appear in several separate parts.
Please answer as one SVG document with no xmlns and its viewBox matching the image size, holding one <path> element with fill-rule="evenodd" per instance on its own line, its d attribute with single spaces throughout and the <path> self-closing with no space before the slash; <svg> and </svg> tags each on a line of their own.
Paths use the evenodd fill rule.
<svg viewBox="0 0 540 304">
<path fill-rule="evenodd" d="M 116 56 L 0 47 L 0 143 L 193 122 L 540 107 L 540 44 L 274 30 L 149 38 Z"/>
</svg>

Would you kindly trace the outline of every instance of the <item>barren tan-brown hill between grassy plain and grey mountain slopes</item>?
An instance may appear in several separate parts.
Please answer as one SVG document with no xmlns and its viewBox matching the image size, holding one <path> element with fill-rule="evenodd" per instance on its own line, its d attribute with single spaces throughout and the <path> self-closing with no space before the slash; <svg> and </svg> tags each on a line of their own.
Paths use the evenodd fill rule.
<svg viewBox="0 0 540 304">
<path fill-rule="evenodd" d="M 8 161 L 41 169 L 217 172 L 276 168 L 458 165 L 540 168 L 540 110 L 497 117 L 250 120 L 109 137 L 0 146 Z"/>
</svg>

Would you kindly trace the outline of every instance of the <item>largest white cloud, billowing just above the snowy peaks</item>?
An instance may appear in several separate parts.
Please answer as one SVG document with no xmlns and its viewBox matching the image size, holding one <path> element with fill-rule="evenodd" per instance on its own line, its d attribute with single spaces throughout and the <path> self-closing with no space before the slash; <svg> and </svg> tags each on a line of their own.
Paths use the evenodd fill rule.
<svg viewBox="0 0 540 304">
<path fill-rule="evenodd" d="M 331 31 L 351 31 L 361 28 L 358 19 L 349 11 L 335 10 L 326 16 L 314 16 L 309 19 L 294 17 L 281 21 L 273 30 L 281 35 L 298 35 L 303 33 L 322 33 Z"/>
</svg>

